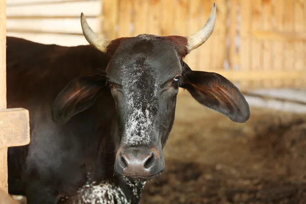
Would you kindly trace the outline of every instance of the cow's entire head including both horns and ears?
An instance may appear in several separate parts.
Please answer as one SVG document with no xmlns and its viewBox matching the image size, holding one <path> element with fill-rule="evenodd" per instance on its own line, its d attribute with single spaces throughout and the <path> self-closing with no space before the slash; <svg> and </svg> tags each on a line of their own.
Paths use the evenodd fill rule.
<svg viewBox="0 0 306 204">
<path fill-rule="evenodd" d="M 210 37 L 215 22 L 214 4 L 207 23 L 188 37 L 142 34 L 107 40 L 91 30 L 82 13 L 85 38 L 110 56 L 106 86 L 111 89 L 118 115 L 117 173 L 134 179 L 148 179 L 164 170 L 162 149 L 173 125 L 179 87 L 188 90 L 203 106 L 234 122 L 248 120 L 249 106 L 236 86 L 220 74 L 193 71 L 183 61 L 188 53 Z M 61 110 L 54 114 L 58 120 L 64 118 L 67 121 L 88 108 L 99 93 L 99 86 L 103 87 L 88 79 L 84 85 L 73 95 L 81 99 L 74 100 L 69 112 L 61 114 L 62 109 L 55 109 Z M 86 103 L 75 109 L 80 101 Z"/>
</svg>

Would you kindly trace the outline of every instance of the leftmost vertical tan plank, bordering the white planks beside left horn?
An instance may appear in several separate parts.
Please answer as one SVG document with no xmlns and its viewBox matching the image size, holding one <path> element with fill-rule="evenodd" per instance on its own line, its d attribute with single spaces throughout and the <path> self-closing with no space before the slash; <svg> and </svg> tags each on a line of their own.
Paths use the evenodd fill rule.
<svg viewBox="0 0 306 204">
<path fill-rule="evenodd" d="M 103 1 L 103 25 L 102 32 L 108 39 L 118 37 L 118 0 Z"/>
</svg>

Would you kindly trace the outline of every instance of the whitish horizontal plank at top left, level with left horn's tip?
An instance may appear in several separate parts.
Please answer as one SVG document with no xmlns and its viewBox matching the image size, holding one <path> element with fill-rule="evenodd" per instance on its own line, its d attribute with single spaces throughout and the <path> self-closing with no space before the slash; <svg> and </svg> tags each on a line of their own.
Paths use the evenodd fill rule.
<svg viewBox="0 0 306 204">
<path fill-rule="evenodd" d="M 81 15 L 83 12 L 87 15 L 101 15 L 102 3 L 100 1 L 90 2 L 72 2 L 62 4 L 51 4 L 51 5 L 33 5 L 33 6 L 18 6 L 18 7 L 7 7 L 8 16 L 74 16 Z"/>
</svg>

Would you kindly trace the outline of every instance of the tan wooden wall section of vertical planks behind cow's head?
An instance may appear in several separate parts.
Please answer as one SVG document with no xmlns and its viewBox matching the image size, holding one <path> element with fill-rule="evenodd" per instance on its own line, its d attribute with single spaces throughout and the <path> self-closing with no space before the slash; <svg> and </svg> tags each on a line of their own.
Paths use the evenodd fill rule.
<svg viewBox="0 0 306 204">
<path fill-rule="evenodd" d="M 305 0 L 105 0 L 103 34 L 190 35 L 213 3 L 216 27 L 187 56 L 192 69 L 221 73 L 241 89 L 306 87 Z"/>
</svg>

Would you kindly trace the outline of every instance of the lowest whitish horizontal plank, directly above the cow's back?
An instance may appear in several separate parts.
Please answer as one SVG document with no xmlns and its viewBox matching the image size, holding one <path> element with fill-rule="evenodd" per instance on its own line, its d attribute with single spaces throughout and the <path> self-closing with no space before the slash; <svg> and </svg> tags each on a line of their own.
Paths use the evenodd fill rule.
<svg viewBox="0 0 306 204">
<path fill-rule="evenodd" d="M 44 44 L 58 44 L 62 46 L 77 46 L 89 44 L 83 35 L 59 35 L 59 34 L 33 34 L 8 32 L 8 36 L 24 38 Z"/>
</svg>

